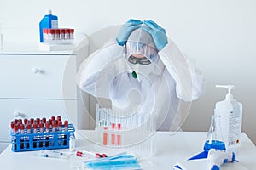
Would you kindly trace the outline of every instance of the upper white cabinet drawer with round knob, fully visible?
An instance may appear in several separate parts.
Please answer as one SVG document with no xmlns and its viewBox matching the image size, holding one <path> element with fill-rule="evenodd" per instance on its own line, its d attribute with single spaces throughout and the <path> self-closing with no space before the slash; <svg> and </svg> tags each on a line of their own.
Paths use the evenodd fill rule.
<svg viewBox="0 0 256 170">
<path fill-rule="evenodd" d="M 0 98 L 76 99 L 74 55 L 0 55 Z"/>
</svg>

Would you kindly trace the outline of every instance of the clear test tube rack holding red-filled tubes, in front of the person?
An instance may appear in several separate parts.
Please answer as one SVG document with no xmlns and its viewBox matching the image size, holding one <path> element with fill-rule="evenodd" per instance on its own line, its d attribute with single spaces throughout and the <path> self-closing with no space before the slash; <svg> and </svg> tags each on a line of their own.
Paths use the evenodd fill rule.
<svg viewBox="0 0 256 170">
<path fill-rule="evenodd" d="M 154 155 L 156 120 L 154 114 L 127 116 L 120 111 L 96 105 L 96 143 Z"/>
</svg>

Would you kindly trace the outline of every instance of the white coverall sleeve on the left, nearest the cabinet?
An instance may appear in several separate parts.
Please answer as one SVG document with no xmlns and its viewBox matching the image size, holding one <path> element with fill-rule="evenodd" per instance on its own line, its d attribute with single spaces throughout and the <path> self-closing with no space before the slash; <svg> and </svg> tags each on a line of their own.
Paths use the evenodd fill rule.
<svg viewBox="0 0 256 170">
<path fill-rule="evenodd" d="M 85 92 L 102 98 L 109 98 L 108 84 L 114 77 L 114 61 L 123 56 L 124 48 L 115 40 L 107 42 L 80 65 L 76 75 L 76 83 Z M 101 86 L 101 84 L 104 86 Z M 105 89 L 104 89 L 105 88 Z"/>
</svg>

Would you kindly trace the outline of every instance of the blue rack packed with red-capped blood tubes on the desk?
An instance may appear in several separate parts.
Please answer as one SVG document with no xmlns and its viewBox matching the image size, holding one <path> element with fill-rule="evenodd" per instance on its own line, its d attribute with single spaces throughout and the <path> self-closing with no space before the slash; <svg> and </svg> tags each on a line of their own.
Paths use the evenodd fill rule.
<svg viewBox="0 0 256 170">
<path fill-rule="evenodd" d="M 69 148 L 69 139 L 74 137 L 73 124 L 62 122 L 61 116 L 30 119 L 15 119 L 10 123 L 12 150 L 49 150 Z"/>
</svg>

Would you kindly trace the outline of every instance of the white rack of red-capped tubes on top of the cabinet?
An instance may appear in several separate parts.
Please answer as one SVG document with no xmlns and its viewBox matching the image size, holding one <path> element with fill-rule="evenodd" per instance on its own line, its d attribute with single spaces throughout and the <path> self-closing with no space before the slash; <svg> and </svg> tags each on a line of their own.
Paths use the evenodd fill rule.
<svg viewBox="0 0 256 170">
<path fill-rule="evenodd" d="M 43 29 L 43 36 L 45 44 L 72 44 L 74 41 L 74 29 Z"/>
</svg>

